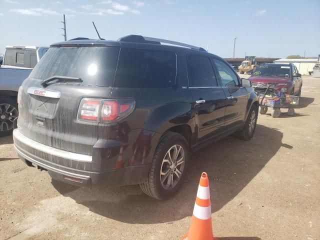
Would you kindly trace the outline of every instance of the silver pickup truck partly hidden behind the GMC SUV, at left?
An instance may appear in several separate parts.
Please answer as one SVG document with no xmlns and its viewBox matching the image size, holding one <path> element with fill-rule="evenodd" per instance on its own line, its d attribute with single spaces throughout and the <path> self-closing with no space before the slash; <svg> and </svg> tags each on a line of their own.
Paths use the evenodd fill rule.
<svg viewBox="0 0 320 240">
<path fill-rule="evenodd" d="M 47 49 L 38 46 L 5 47 L 0 65 L 0 136 L 11 133 L 18 116 L 18 89 Z"/>
</svg>

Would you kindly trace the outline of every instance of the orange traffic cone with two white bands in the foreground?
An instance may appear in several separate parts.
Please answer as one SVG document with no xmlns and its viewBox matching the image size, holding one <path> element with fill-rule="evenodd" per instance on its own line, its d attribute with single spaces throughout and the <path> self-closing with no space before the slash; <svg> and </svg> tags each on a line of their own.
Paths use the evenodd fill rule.
<svg viewBox="0 0 320 240">
<path fill-rule="evenodd" d="M 189 232 L 182 240 L 217 240 L 212 233 L 210 190 L 206 172 L 201 174 Z"/>
</svg>

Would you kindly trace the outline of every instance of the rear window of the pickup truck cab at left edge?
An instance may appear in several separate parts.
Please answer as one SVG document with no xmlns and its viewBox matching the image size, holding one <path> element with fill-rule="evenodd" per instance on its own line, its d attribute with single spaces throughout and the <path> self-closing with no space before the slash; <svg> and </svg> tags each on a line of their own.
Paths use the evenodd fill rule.
<svg viewBox="0 0 320 240">
<path fill-rule="evenodd" d="M 33 68 L 36 64 L 34 49 L 6 49 L 3 65 Z"/>
</svg>

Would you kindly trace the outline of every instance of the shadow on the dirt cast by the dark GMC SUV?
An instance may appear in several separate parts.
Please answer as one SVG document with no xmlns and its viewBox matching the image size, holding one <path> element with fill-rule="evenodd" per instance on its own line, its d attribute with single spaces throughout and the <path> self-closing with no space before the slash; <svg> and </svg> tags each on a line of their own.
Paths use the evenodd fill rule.
<svg viewBox="0 0 320 240">
<path fill-rule="evenodd" d="M 148 197 L 138 185 L 88 189 L 57 181 L 52 181 L 52 184 L 61 194 L 71 197 L 90 211 L 117 221 L 141 224 L 171 222 L 192 215 L 202 171 L 206 171 L 209 176 L 211 211 L 215 212 L 232 200 L 280 147 L 292 148 L 282 143 L 282 136 L 282 132 L 276 128 L 257 124 L 255 135 L 250 141 L 228 136 L 194 152 L 184 184 L 168 200 L 159 201 Z"/>
</svg>

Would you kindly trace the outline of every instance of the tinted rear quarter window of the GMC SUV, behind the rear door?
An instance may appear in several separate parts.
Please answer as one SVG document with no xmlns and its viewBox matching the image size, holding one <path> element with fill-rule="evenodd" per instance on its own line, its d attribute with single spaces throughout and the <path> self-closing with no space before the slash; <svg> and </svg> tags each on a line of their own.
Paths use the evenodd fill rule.
<svg viewBox="0 0 320 240">
<path fill-rule="evenodd" d="M 114 87 L 172 87 L 176 54 L 171 51 L 121 48 Z"/>
</svg>

